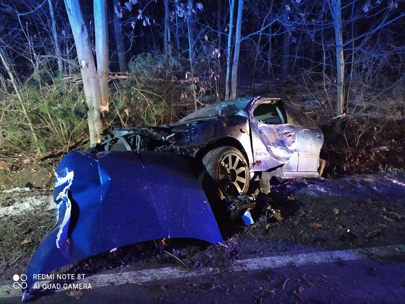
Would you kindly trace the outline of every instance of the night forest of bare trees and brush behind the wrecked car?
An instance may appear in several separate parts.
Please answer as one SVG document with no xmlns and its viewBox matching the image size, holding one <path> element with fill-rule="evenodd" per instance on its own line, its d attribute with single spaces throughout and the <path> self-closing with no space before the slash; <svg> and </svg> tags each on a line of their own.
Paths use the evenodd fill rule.
<svg viewBox="0 0 405 304">
<path fill-rule="evenodd" d="M 0 12 L 2 155 L 255 94 L 348 120 L 349 149 L 404 116 L 402 0 L 3 0 Z"/>
</svg>

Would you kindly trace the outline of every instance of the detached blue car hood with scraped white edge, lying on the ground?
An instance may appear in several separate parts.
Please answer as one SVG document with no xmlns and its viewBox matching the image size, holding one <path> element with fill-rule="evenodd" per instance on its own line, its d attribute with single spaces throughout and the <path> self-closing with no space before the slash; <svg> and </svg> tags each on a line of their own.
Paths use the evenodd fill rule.
<svg viewBox="0 0 405 304">
<path fill-rule="evenodd" d="M 74 151 L 55 172 L 56 225 L 27 270 L 34 274 L 133 243 L 163 238 L 223 242 L 198 178 L 179 155 Z"/>
</svg>

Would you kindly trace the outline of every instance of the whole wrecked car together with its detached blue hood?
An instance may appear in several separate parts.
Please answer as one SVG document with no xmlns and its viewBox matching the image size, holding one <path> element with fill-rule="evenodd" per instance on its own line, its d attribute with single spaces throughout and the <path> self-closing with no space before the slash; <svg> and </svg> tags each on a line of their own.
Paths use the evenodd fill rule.
<svg viewBox="0 0 405 304">
<path fill-rule="evenodd" d="M 223 242 L 206 180 L 226 201 L 256 179 L 318 176 L 322 143 L 299 108 L 266 97 L 212 104 L 161 127 L 110 129 L 92 151 L 73 151 L 57 166 L 55 226 L 31 258 L 23 300 L 35 293 L 36 274 L 116 247 L 164 238 Z"/>
</svg>

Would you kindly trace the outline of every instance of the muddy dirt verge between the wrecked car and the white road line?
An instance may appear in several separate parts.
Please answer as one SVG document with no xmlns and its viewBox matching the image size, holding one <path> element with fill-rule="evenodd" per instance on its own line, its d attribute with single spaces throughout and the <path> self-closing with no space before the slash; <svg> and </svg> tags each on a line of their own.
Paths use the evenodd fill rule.
<svg viewBox="0 0 405 304">
<path fill-rule="evenodd" d="M 49 190 L 0 193 L 0 281 L 24 273 L 36 245 L 54 224 Z M 381 172 L 339 179 L 296 179 L 273 185 L 271 207 L 280 221 L 250 227 L 234 222 L 221 228 L 225 245 L 169 239 L 118 248 L 80 261 L 66 272 L 165 264 L 189 269 L 220 267 L 250 256 L 316 248 L 370 247 L 405 241 L 405 172 Z M 167 252 L 165 252 L 167 251 Z"/>
</svg>

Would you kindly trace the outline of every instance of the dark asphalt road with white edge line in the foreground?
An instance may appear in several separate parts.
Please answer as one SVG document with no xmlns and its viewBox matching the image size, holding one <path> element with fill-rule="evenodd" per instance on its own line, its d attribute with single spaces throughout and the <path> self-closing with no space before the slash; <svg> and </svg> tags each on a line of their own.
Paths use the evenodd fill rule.
<svg viewBox="0 0 405 304">
<path fill-rule="evenodd" d="M 35 303 L 403 303 L 404 273 L 404 245 L 294 252 L 236 260 L 227 271 L 215 268 L 184 271 L 171 267 L 99 273 L 82 281 L 91 284 L 92 289 L 42 292 L 33 300 Z M 21 300 L 19 296 L 5 298 L 4 288 L 1 303 Z M 8 290 L 9 296 L 16 292 Z"/>
</svg>

